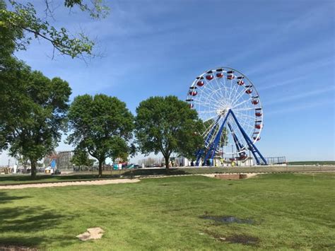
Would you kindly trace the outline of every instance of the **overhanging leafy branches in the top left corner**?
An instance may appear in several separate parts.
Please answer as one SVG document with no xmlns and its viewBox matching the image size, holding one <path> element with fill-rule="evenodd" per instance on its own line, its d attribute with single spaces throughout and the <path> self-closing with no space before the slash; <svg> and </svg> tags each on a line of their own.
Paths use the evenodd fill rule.
<svg viewBox="0 0 335 251">
<path fill-rule="evenodd" d="M 6 5 L 11 8 L 8 8 Z M 102 4 L 101 0 L 64 0 L 65 8 L 79 7 L 81 11 L 86 11 L 92 18 L 105 17 L 108 7 Z M 53 16 L 52 1 L 45 0 L 45 16 Z M 26 49 L 33 38 L 41 38 L 49 41 L 54 49 L 61 54 L 70 57 L 79 57 L 85 54 L 92 54 L 93 40 L 83 34 L 70 35 L 66 28 L 55 28 L 46 20 L 38 17 L 33 4 L 20 4 L 15 0 L 0 0 L 0 39 L 6 42 L 5 46 L 14 45 L 15 49 Z"/>
</svg>

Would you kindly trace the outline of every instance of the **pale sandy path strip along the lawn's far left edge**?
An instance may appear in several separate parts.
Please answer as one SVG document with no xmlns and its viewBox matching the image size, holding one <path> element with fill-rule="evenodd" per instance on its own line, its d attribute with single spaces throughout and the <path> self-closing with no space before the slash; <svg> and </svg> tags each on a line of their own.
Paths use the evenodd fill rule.
<svg viewBox="0 0 335 251">
<path fill-rule="evenodd" d="M 49 182 L 40 184 L 21 184 L 21 185 L 4 185 L 0 189 L 23 189 L 23 188 L 40 188 L 40 187 L 65 187 L 65 186 L 79 186 L 79 185 L 108 185 L 120 183 L 135 183 L 139 179 L 117 179 L 117 180 L 90 180 L 90 181 L 69 181 L 69 182 Z"/>
</svg>

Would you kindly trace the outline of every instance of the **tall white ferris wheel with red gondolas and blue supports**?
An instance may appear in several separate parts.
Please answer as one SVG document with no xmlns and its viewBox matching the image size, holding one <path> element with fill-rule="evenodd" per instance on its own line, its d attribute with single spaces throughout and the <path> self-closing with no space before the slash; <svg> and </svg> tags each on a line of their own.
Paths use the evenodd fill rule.
<svg viewBox="0 0 335 251">
<path fill-rule="evenodd" d="M 202 119 L 204 148 L 196 152 L 196 165 L 212 165 L 214 158 L 245 160 L 253 155 L 257 165 L 265 158 L 254 145 L 261 139 L 264 124 L 259 94 L 240 71 L 220 67 L 197 76 L 189 87 L 187 100 Z"/>
</svg>

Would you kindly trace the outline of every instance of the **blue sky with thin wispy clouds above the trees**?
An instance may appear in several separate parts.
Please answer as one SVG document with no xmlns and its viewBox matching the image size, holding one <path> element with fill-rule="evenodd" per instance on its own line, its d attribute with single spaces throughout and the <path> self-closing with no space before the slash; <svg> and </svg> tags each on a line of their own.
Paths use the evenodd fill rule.
<svg viewBox="0 0 335 251">
<path fill-rule="evenodd" d="M 41 1 L 33 1 L 37 8 Z M 93 21 L 59 6 L 54 24 L 98 41 L 104 57 L 85 64 L 52 56 L 35 41 L 17 56 L 50 78 L 69 81 L 72 98 L 117 96 L 135 112 L 152 95 L 186 97 L 194 78 L 216 66 L 242 71 L 257 87 L 264 156 L 335 160 L 335 2 L 108 1 L 110 16 Z M 57 6 L 57 1 L 54 1 Z M 58 150 L 70 149 L 61 143 Z M 5 164 L 4 155 L 0 164 Z"/>
</svg>

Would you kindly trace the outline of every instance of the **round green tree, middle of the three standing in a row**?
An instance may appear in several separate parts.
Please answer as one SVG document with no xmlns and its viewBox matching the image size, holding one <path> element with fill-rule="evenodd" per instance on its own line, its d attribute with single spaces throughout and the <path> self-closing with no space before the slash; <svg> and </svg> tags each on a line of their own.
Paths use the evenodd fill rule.
<svg viewBox="0 0 335 251">
<path fill-rule="evenodd" d="M 131 148 L 134 117 L 126 104 L 115 97 L 80 95 L 69 110 L 70 144 L 88 151 L 99 162 L 99 176 L 106 158 L 124 157 Z"/>
</svg>

